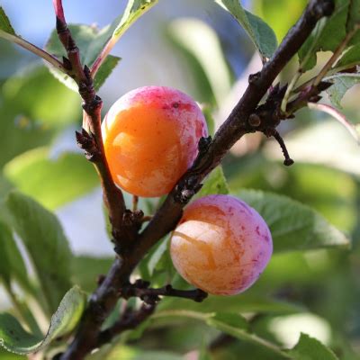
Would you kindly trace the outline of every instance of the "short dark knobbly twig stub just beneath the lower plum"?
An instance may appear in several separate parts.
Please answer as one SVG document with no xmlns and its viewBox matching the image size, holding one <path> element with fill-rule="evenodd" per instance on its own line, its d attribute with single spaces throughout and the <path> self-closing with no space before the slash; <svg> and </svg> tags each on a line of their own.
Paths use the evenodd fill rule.
<svg viewBox="0 0 360 360">
<path fill-rule="evenodd" d="M 149 288 L 149 283 L 143 280 L 137 280 L 135 284 L 127 284 L 121 288 L 120 296 L 124 299 L 138 297 L 143 302 L 154 304 L 160 301 L 160 296 L 172 296 L 177 298 L 190 299 L 194 302 L 202 302 L 208 296 L 201 289 L 194 290 L 176 290 L 171 285 L 154 289 Z"/>
</svg>

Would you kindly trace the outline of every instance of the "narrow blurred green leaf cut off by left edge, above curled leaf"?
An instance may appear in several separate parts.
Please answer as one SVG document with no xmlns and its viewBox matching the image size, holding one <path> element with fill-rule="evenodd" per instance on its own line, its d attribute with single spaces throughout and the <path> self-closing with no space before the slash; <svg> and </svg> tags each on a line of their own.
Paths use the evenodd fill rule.
<svg viewBox="0 0 360 360">
<path fill-rule="evenodd" d="M 23 257 L 17 247 L 13 233 L 0 221 L 0 278 L 7 286 L 12 280 L 20 284 L 25 291 L 33 293 Z"/>
</svg>

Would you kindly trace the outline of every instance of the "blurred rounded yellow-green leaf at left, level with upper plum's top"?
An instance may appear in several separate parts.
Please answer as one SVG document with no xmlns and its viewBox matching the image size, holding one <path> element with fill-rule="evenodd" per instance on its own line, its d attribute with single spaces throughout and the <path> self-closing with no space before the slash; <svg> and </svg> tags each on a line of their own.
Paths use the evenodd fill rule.
<svg viewBox="0 0 360 360">
<path fill-rule="evenodd" d="M 3 87 L 4 103 L 29 121 L 61 128 L 79 121 L 80 100 L 77 94 L 58 84 L 46 67 L 26 67 L 9 78 Z"/>
</svg>

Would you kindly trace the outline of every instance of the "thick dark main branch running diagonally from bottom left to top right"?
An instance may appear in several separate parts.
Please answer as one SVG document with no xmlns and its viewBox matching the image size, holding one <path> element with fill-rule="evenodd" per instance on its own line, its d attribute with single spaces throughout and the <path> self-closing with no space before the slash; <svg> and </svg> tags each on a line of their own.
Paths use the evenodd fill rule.
<svg viewBox="0 0 360 360">
<path fill-rule="evenodd" d="M 132 246 L 121 249 L 120 255 L 113 263 L 109 274 L 106 275 L 102 284 L 93 293 L 77 329 L 74 341 L 68 347 L 67 352 L 61 356 L 61 360 L 83 359 L 86 354 L 103 343 L 101 340 L 103 335 L 101 335 L 100 329 L 103 320 L 109 316 L 118 301 L 119 289 L 129 283 L 131 272 L 150 247 L 156 244 L 158 239 L 174 229 L 175 224 L 182 215 L 185 203 L 200 188 L 203 178 L 220 164 L 229 148 L 244 134 L 256 130 L 266 130 L 267 128 L 275 129 L 278 122 L 284 120 L 279 118 L 276 120 L 277 122 L 274 122 L 273 118 L 265 117 L 262 119 L 265 122 L 261 123 L 259 128 L 255 126 L 257 122 L 254 125 L 254 121 L 248 119 L 251 114 L 257 112 L 258 103 L 273 84 L 275 77 L 301 48 L 316 23 L 323 16 L 330 15 L 333 8 L 334 3 L 332 0 L 311 0 L 300 20 L 288 32 L 276 50 L 274 57 L 264 65 L 260 72 L 249 77 L 249 85 L 245 94 L 243 94 L 238 104 L 229 114 L 228 119 L 217 131 L 214 139 L 211 141 L 210 139 L 202 139 L 200 141 L 199 155 L 193 166 L 180 179 L 172 192 L 168 194 L 166 201 L 150 220 L 147 228 L 136 237 L 136 241 L 132 242 Z M 97 113 L 92 112 L 91 108 L 86 107 L 86 109 L 89 111 L 91 121 L 98 126 L 99 117 Z M 95 137 L 96 134 L 97 132 L 94 133 Z M 103 164 L 106 163 L 103 162 Z M 105 174 L 105 176 L 107 175 Z M 106 183 L 104 187 L 106 188 L 106 186 L 111 185 Z M 112 200 L 108 199 L 107 201 L 111 202 Z M 113 204 L 113 202 L 111 203 Z M 110 205 L 111 208 L 112 204 Z"/>
</svg>

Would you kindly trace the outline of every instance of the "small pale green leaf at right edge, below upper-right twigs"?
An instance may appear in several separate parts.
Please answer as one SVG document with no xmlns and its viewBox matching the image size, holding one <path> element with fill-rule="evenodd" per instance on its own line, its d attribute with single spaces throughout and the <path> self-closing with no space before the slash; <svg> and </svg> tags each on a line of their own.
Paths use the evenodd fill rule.
<svg viewBox="0 0 360 360">
<path fill-rule="evenodd" d="M 336 76 L 329 76 L 327 80 L 334 84 L 327 89 L 331 103 L 342 109 L 342 98 L 347 93 L 347 90 L 360 83 L 360 74 L 339 73 Z"/>
</svg>

